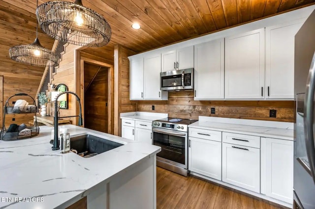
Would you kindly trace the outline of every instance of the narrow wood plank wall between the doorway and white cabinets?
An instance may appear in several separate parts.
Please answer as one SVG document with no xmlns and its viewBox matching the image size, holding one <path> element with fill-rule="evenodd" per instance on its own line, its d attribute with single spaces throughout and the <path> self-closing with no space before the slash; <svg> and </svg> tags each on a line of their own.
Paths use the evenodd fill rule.
<svg viewBox="0 0 315 209">
<path fill-rule="evenodd" d="M 134 55 L 135 52 L 116 45 L 114 50 L 114 78 L 115 78 L 115 107 L 114 107 L 114 134 L 121 136 L 121 119 L 120 114 L 133 112 L 137 109 L 136 101 L 129 100 L 129 60 L 128 56 Z"/>
</svg>

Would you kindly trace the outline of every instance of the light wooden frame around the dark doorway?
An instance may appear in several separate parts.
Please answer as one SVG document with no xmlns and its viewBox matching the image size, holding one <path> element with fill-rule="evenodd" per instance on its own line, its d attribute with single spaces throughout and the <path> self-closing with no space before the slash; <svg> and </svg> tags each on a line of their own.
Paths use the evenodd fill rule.
<svg viewBox="0 0 315 209">
<path fill-rule="evenodd" d="M 80 84 L 80 91 L 79 95 L 82 101 L 82 117 L 84 118 L 84 62 L 94 64 L 97 66 L 107 67 L 108 69 L 108 108 L 107 108 L 107 114 L 108 114 L 108 127 L 107 131 L 109 134 L 113 134 L 112 130 L 112 124 L 114 122 L 113 119 L 113 113 L 114 113 L 114 66 L 111 64 L 108 64 L 106 62 L 92 60 L 86 57 L 80 56 L 80 63 L 79 63 L 79 70 L 77 70 L 77 76 L 76 76 L 76 83 Z M 83 125 L 84 125 L 84 119 L 83 119 Z"/>
</svg>

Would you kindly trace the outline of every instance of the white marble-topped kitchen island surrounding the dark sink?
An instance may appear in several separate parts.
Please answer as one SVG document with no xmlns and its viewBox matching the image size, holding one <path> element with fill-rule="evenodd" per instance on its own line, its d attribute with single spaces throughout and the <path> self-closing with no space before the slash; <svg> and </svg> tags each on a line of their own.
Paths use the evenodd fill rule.
<svg viewBox="0 0 315 209">
<path fill-rule="evenodd" d="M 70 137 L 91 134 L 124 144 L 91 158 L 53 151 L 51 130 L 36 137 L 0 141 L 0 209 L 64 209 L 87 197 L 88 209 L 155 209 L 156 154 L 160 147 L 82 128 Z"/>
</svg>

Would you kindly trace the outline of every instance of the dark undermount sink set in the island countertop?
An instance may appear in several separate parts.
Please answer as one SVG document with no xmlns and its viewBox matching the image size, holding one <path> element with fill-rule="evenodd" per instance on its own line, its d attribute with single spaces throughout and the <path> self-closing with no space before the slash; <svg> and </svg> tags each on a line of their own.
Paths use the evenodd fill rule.
<svg viewBox="0 0 315 209">
<path fill-rule="evenodd" d="M 93 157 L 105 151 L 118 148 L 123 144 L 103 139 L 91 134 L 70 138 L 70 148 L 75 149 L 81 157 Z"/>
</svg>

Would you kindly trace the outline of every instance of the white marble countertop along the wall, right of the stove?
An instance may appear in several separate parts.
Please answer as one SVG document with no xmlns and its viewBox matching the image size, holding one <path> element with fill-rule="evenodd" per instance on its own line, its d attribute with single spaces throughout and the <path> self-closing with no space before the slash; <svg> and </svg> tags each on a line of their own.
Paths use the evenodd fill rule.
<svg viewBox="0 0 315 209">
<path fill-rule="evenodd" d="M 293 140 L 293 123 L 290 122 L 199 117 L 199 121 L 189 127 Z"/>
</svg>

